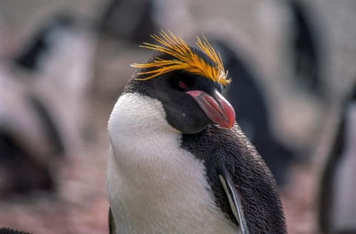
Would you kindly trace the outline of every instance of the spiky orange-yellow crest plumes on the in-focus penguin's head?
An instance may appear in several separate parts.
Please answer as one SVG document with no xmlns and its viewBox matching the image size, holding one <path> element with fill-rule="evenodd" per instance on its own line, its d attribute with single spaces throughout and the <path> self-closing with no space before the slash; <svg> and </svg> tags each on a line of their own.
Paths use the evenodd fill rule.
<svg viewBox="0 0 356 234">
<path fill-rule="evenodd" d="M 167 60 L 156 58 L 149 63 L 133 63 L 131 66 L 134 68 L 148 69 L 148 71 L 138 72 L 139 75 L 148 75 L 145 78 L 138 78 L 138 80 L 148 80 L 160 76 L 163 73 L 183 70 L 200 76 L 205 76 L 210 80 L 223 85 L 230 83 L 230 79 L 226 78 L 228 73 L 225 72 L 220 54 L 215 52 L 205 36 L 205 41 L 200 40 L 197 36 L 195 44 L 215 63 L 215 66 L 207 63 L 204 59 L 200 58 L 200 56 L 193 53 L 192 49 L 190 49 L 185 41 L 180 37 L 175 36 L 171 31 L 169 31 L 169 35 L 164 31 L 161 31 L 160 36 L 153 35 L 151 37 L 162 44 L 162 46 L 143 43 L 144 46 L 141 47 L 153 49 L 154 51 L 161 51 L 176 59 Z"/>
</svg>

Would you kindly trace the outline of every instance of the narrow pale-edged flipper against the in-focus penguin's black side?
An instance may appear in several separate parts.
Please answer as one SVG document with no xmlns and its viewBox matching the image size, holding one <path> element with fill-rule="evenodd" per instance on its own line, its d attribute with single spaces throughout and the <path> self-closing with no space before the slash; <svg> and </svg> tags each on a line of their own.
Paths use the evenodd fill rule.
<svg viewBox="0 0 356 234">
<path fill-rule="evenodd" d="M 231 211 L 233 212 L 233 215 L 235 216 L 236 220 L 238 220 L 241 234 L 249 234 L 250 232 L 248 231 L 245 215 L 243 214 L 243 206 L 241 205 L 238 191 L 235 189 L 235 185 L 230 176 L 230 173 L 225 168 L 225 166 L 220 166 L 218 177 L 220 183 L 223 185 L 226 196 L 228 197 Z"/>
</svg>

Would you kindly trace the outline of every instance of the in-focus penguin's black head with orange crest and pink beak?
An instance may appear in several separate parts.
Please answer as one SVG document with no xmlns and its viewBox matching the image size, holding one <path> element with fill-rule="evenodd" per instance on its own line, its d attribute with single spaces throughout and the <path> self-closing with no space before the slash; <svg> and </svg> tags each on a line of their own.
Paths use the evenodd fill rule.
<svg viewBox="0 0 356 234">
<path fill-rule="evenodd" d="M 126 92 L 138 92 L 157 99 L 166 112 L 166 120 L 178 131 L 198 133 L 208 124 L 232 128 L 235 111 L 221 92 L 226 78 L 220 56 L 208 41 L 198 39 L 199 49 L 182 39 L 161 32 L 153 36 L 163 46 L 146 44 L 158 52 L 146 63 L 134 63 L 138 72 L 126 86 Z"/>
</svg>

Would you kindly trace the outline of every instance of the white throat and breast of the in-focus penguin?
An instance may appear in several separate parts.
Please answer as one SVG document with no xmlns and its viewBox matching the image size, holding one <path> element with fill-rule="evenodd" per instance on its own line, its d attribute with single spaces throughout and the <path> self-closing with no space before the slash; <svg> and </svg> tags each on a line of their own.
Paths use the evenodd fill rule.
<svg viewBox="0 0 356 234">
<path fill-rule="evenodd" d="M 203 163 L 179 147 L 160 101 L 128 93 L 108 123 L 116 233 L 238 233 L 213 201 Z"/>
</svg>

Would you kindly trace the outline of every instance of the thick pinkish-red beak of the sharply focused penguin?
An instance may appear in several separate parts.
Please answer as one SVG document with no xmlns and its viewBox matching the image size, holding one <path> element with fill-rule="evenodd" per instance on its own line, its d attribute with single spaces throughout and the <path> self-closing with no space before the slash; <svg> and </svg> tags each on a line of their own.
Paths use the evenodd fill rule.
<svg viewBox="0 0 356 234">
<path fill-rule="evenodd" d="M 204 91 L 188 91 L 186 92 L 192 96 L 198 103 L 204 113 L 214 123 L 224 127 L 232 128 L 235 123 L 235 110 L 233 106 L 219 93 L 214 91 L 213 96 Z"/>
</svg>

